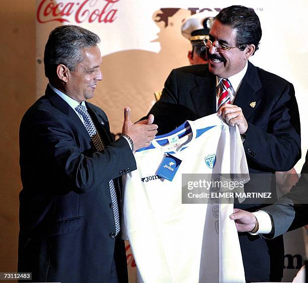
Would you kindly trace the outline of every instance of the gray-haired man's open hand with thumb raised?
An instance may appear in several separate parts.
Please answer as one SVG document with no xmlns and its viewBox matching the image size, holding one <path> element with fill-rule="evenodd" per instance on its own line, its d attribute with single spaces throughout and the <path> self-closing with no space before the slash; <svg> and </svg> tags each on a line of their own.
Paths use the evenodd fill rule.
<svg viewBox="0 0 308 283">
<path fill-rule="evenodd" d="M 130 109 L 125 107 L 122 133 L 132 139 L 134 151 L 149 146 L 150 141 L 155 139 L 155 135 L 157 134 L 158 126 L 152 124 L 154 122 L 154 116 L 149 115 L 147 120 L 142 120 L 135 124 L 130 121 L 130 116 Z"/>
</svg>

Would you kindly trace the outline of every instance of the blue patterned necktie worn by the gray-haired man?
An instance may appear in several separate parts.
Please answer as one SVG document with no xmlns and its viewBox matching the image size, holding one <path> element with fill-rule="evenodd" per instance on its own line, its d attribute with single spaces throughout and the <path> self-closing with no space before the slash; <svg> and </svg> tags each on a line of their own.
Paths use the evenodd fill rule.
<svg viewBox="0 0 308 283">
<path fill-rule="evenodd" d="M 84 118 L 84 124 L 85 127 L 91 137 L 91 140 L 96 148 L 96 150 L 101 151 L 104 149 L 104 146 L 102 144 L 102 141 L 96 131 L 96 128 L 94 126 L 94 123 L 87 111 L 86 106 L 84 105 L 78 105 L 75 110 Z M 116 235 L 120 232 L 120 219 L 119 219 L 119 208 L 118 208 L 118 201 L 117 201 L 117 195 L 115 191 L 115 186 L 113 180 L 109 181 L 109 188 L 110 188 L 110 195 L 111 195 L 111 201 L 112 201 L 112 209 L 114 214 L 114 222 L 116 227 Z"/>
</svg>

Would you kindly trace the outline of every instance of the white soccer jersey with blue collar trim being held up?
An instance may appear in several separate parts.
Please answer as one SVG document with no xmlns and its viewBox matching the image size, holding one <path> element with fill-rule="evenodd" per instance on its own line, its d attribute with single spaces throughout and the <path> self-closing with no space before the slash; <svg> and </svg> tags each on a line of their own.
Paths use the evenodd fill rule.
<svg viewBox="0 0 308 283">
<path fill-rule="evenodd" d="M 182 160 L 172 181 L 157 174 L 167 153 Z M 123 176 L 121 229 L 143 282 L 245 282 L 233 204 L 182 204 L 184 173 L 248 175 L 238 128 L 216 114 L 187 121 L 135 158 L 137 170 Z"/>
</svg>

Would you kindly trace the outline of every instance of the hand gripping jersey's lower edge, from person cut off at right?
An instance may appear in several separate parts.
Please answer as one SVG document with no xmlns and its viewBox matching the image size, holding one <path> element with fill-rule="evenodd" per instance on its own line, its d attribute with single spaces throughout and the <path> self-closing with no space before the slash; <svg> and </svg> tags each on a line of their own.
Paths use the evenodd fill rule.
<svg viewBox="0 0 308 283">
<path fill-rule="evenodd" d="M 254 214 L 239 208 L 233 211 L 229 217 L 235 221 L 238 232 L 250 232 L 255 228 L 257 218 Z"/>
</svg>

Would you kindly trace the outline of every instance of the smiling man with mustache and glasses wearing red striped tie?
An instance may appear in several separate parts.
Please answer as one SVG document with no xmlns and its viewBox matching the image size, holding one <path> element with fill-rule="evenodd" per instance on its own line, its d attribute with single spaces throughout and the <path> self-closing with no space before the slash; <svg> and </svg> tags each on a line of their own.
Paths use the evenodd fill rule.
<svg viewBox="0 0 308 283">
<path fill-rule="evenodd" d="M 217 111 L 227 124 L 237 125 L 242 135 L 251 174 L 245 191 L 273 188 L 275 196 L 274 174 L 263 174 L 257 181 L 253 175 L 288 171 L 295 164 L 300 158 L 300 125 L 293 85 L 248 61 L 261 35 L 260 20 L 252 9 L 231 6 L 221 10 L 204 40 L 208 65 L 173 70 L 160 101 L 149 113 L 155 115 L 162 134 L 187 118 Z M 181 116 L 183 107 L 187 117 Z M 255 211 L 260 205 L 247 199 L 235 207 Z M 247 281 L 280 281 L 282 238 L 267 241 L 248 233 L 240 233 L 239 238 Z"/>
</svg>

